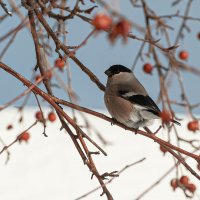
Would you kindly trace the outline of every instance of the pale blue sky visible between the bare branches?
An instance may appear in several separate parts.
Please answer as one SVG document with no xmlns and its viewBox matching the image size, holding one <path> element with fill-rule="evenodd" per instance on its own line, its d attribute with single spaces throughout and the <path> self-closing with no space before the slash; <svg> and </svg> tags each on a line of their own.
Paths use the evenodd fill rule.
<svg viewBox="0 0 200 200">
<path fill-rule="evenodd" d="M 6 2 L 6 1 L 5 1 Z M 20 2 L 20 1 L 16 1 Z M 72 5 L 73 1 L 69 1 L 69 4 Z M 130 21 L 136 22 L 138 24 L 144 25 L 144 19 L 142 16 L 142 10 L 140 8 L 133 9 L 130 1 L 110 1 L 115 9 L 120 13 L 126 16 Z M 183 14 L 185 10 L 185 5 L 187 1 L 183 0 L 178 6 L 171 7 L 172 1 L 161 1 L 159 0 L 149 0 L 147 3 L 151 6 L 153 10 L 156 11 L 159 15 L 174 14 L 177 10 L 180 10 L 180 14 Z M 92 4 L 91 4 L 92 5 Z M 194 1 L 191 8 L 191 15 L 193 17 L 200 17 L 199 15 L 200 1 Z M 83 6 L 84 8 L 84 6 Z M 25 13 L 25 9 L 21 8 L 22 12 Z M 93 11 L 93 15 L 102 11 L 102 7 L 99 5 L 97 9 Z M 0 14 L 3 14 L 2 9 Z M 169 21 L 169 20 L 167 20 Z M 14 14 L 12 17 L 7 18 L 5 21 L 0 22 L 0 37 L 4 35 L 8 30 L 15 27 L 19 24 L 18 17 Z M 169 24 L 174 27 L 174 30 L 169 31 L 169 35 L 172 43 L 175 40 L 175 36 L 178 28 L 180 27 L 181 19 L 174 18 Z M 189 52 L 188 64 L 192 66 L 199 67 L 200 57 L 198 52 L 200 52 L 200 41 L 196 39 L 196 35 L 200 32 L 199 22 L 189 21 L 188 25 L 191 29 L 190 33 L 185 33 L 185 40 L 179 42 L 179 48 L 177 49 L 176 55 L 181 49 L 186 49 Z M 91 25 L 83 23 L 78 18 L 75 18 L 72 22 L 67 23 L 67 35 L 68 45 L 78 45 L 92 30 Z M 138 37 L 143 38 L 144 35 L 137 32 L 137 30 L 132 27 L 132 33 Z M 163 42 L 163 35 L 156 36 L 156 39 L 160 39 L 160 42 Z M 0 51 L 6 45 L 6 40 L 3 43 L 0 43 Z M 106 84 L 106 76 L 104 71 L 113 64 L 123 64 L 129 68 L 133 65 L 134 59 L 137 55 L 137 52 L 140 48 L 141 42 L 136 40 L 128 40 L 126 44 L 122 40 L 117 40 L 117 42 L 112 45 L 107 39 L 106 33 L 99 33 L 93 36 L 83 48 L 81 48 L 76 56 L 80 59 L 84 65 L 86 65 L 94 74 L 99 78 L 99 80 Z M 148 46 L 145 47 L 147 52 Z M 53 66 L 54 60 L 57 58 L 56 53 L 52 53 L 50 57 L 50 65 Z M 163 63 L 167 66 L 167 61 L 163 59 Z M 10 67 L 15 69 L 17 72 L 24 75 L 26 78 L 31 79 L 32 69 L 35 66 L 36 58 L 34 53 L 33 41 L 30 33 L 23 29 L 20 33 L 17 34 L 16 39 L 14 40 L 12 46 L 6 52 L 5 56 L 2 59 L 3 62 L 8 64 Z M 139 60 L 134 70 L 134 73 L 140 80 L 140 82 L 145 86 L 149 95 L 156 101 L 159 95 L 159 82 L 156 71 L 153 72 L 153 75 L 144 74 L 142 66 L 145 62 L 153 62 L 152 58 L 147 58 L 144 56 L 144 61 Z M 69 66 L 72 73 L 72 87 L 78 95 L 78 104 L 86 106 L 89 108 L 104 109 L 104 100 L 103 92 L 100 91 L 96 85 L 90 81 L 89 77 L 85 75 L 81 69 L 71 60 L 69 60 Z M 66 71 L 64 73 L 58 72 L 62 80 L 67 82 Z M 26 87 L 24 87 L 19 81 L 10 75 L 6 74 L 0 70 L 0 90 L 1 98 L 0 104 L 5 104 L 7 101 L 13 99 L 21 92 L 23 92 Z M 172 81 L 170 81 L 170 97 L 172 100 L 180 100 L 180 87 L 177 84 L 177 81 L 174 79 L 175 76 L 172 76 Z M 187 95 L 191 103 L 198 103 L 200 101 L 199 93 L 199 77 L 189 73 L 183 73 L 183 79 Z M 56 80 L 53 79 L 52 83 L 56 83 Z M 6 88 L 6 89 L 5 89 Z M 42 87 L 43 88 L 43 87 Z M 54 88 L 54 94 L 59 98 L 67 99 L 67 95 L 58 88 Z M 15 102 L 14 106 L 21 105 L 22 101 Z M 32 96 L 28 105 L 35 106 L 37 105 L 35 98 Z M 159 105 L 160 106 L 160 105 Z M 184 112 L 182 108 L 174 107 L 175 111 Z M 196 112 L 199 112 L 197 109 Z"/>
</svg>

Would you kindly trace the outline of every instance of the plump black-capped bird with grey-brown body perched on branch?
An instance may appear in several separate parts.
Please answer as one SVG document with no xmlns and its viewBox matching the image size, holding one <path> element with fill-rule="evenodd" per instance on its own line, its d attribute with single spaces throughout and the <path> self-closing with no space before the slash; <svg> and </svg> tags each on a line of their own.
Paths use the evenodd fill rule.
<svg viewBox="0 0 200 200">
<path fill-rule="evenodd" d="M 104 101 L 114 120 L 139 129 L 160 118 L 160 109 L 129 68 L 117 64 L 104 73 L 108 76 Z M 180 125 L 176 120 L 170 121 Z"/>
</svg>

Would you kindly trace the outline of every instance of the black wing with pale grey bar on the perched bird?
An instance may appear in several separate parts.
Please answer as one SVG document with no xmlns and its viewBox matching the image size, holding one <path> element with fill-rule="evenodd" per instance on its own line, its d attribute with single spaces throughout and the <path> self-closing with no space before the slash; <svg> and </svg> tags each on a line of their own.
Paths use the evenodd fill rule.
<svg viewBox="0 0 200 200">
<path fill-rule="evenodd" d="M 144 107 L 145 110 L 153 113 L 154 115 L 159 116 L 160 109 L 155 104 L 155 102 L 148 95 L 140 95 L 134 92 L 121 90 L 119 91 L 119 96 L 134 103 L 138 106 Z"/>
</svg>

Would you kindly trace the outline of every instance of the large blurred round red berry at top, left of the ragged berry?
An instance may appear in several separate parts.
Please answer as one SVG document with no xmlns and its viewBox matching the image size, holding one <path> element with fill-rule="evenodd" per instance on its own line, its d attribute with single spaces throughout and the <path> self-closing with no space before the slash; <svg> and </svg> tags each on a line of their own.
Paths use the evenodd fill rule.
<svg viewBox="0 0 200 200">
<path fill-rule="evenodd" d="M 112 19 L 109 16 L 100 13 L 94 16 L 92 23 L 97 30 L 107 30 L 112 24 Z"/>
</svg>

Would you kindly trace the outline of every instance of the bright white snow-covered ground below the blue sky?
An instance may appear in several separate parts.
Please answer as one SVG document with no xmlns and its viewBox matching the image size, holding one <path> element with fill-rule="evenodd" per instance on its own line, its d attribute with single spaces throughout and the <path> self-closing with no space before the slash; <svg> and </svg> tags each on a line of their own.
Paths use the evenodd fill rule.
<svg viewBox="0 0 200 200">
<path fill-rule="evenodd" d="M 0 112 L 0 137 L 9 144 L 16 135 L 34 122 L 35 109 L 24 112 L 24 122 L 19 125 L 18 114 L 15 109 Z M 47 113 L 47 111 L 45 111 Z M 146 158 L 124 171 L 108 185 L 115 200 L 133 200 L 144 189 L 149 187 L 174 164 L 171 155 L 159 151 L 158 144 L 140 135 L 135 135 L 117 126 L 111 126 L 93 116 L 87 115 L 94 127 L 112 145 L 103 146 L 95 134 L 91 137 L 103 147 L 108 156 L 102 154 L 93 156 L 96 166 L 101 173 L 122 169 L 125 165 Z M 6 126 L 14 124 L 13 130 L 6 130 Z M 159 122 L 158 122 L 159 123 Z M 154 129 L 158 127 L 155 124 Z M 180 134 L 187 137 L 185 123 L 182 122 Z M 74 200 L 98 186 L 98 181 L 91 180 L 91 172 L 84 166 L 70 137 L 64 131 L 59 131 L 60 123 L 47 123 L 48 137 L 42 135 L 43 127 L 38 124 L 30 130 L 31 139 L 26 143 L 16 143 L 10 149 L 10 160 L 5 164 L 6 153 L 0 155 L 0 199 L 1 200 Z M 199 133 L 197 134 L 199 135 Z M 162 136 L 162 131 L 158 134 Z M 0 144 L 2 149 L 2 144 Z M 189 147 L 187 146 L 188 150 Z M 91 150 L 95 151 L 94 147 Z M 194 163 L 192 160 L 188 160 Z M 194 169 L 196 164 L 194 164 Z M 189 172 L 191 182 L 200 187 L 199 181 Z M 142 199 L 144 200 L 183 200 L 186 199 L 180 189 L 173 192 L 170 180 L 175 177 L 175 171 L 152 189 Z M 85 197 L 86 200 L 105 200 L 100 197 L 101 190 Z M 200 194 L 198 188 L 196 194 Z M 199 199 L 195 195 L 194 199 Z"/>
</svg>

